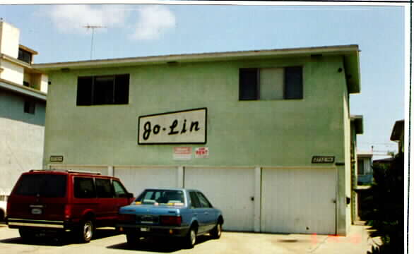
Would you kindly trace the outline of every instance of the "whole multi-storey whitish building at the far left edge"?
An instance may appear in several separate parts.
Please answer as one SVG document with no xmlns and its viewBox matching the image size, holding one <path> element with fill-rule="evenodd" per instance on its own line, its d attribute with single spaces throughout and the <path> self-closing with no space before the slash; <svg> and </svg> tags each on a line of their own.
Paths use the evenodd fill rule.
<svg viewBox="0 0 414 254">
<path fill-rule="evenodd" d="M 0 22 L 0 199 L 23 171 L 42 168 L 47 75 L 32 68 L 20 31 Z"/>
</svg>

